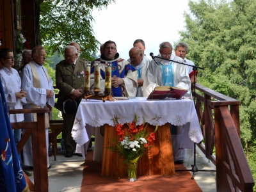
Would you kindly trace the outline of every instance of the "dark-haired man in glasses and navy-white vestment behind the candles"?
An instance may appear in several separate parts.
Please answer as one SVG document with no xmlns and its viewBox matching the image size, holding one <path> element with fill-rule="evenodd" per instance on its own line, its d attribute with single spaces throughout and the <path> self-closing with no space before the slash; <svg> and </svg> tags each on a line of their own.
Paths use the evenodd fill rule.
<svg viewBox="0 0 256 192">
<path fill-rule="evenodd" d="M 135 97 L 137 94 L 137 72 L 128 61 L 120 58 L 116 43 L 108 41 L 104 44 L 103 54 L 95 60 L 100 61 L 100 79 L 105 79 L 105 65 L 108 62 L 112 63 L 111 84 L 114 97 Z M 91 82 L 94 83 L 94 66 L 91 70 Z M 104 92 L 104 81 L 100 84 L 101 92 Z"/>
</svg>

